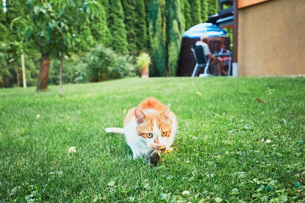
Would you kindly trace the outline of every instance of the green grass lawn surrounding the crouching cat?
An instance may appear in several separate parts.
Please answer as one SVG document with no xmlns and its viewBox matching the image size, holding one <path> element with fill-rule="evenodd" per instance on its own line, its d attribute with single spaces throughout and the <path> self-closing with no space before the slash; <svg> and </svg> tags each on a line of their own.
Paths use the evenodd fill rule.
<svg viewBox="0 0 305 203">
<path fill-rule="evenodd" d="M 64 85 L 63 98 L 2 89 L 0 202 L 303 202 L 304 90 L 300 77 L 131 78 Z M 177 148 L 151 168 L 104 132 L 149 96 L 179 123 Z"/>
</svg>

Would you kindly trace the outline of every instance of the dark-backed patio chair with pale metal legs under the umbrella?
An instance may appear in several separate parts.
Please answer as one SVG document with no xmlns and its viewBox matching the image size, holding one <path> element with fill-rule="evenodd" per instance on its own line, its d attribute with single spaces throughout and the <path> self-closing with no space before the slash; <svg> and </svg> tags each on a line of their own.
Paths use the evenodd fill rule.
<svg viewBox="0 0 305 203">
<path fill-rule="evenodd" d="M 207 71 L 208 71 L 209 66 L 214 65 L 216 63 L 210 64 L 210 61 L 211 61 L 212 57 L 210 57 L 208 60 L 206 59 L 206 55 L 204 54 L 202 46 L 195 46 L 195 47 L 191 46 L 191 50 L 194 54 L 194 58 L 195 58 L 195 61 L 196 61 L 196 66 L 195 66 L 194 71 L 192 73 L 192 77 L 195 77 L 198 74 L 200 67 L 205 67 L 203 75 L 208 76 Z M 218 65 L 218 75 L 219 75 L 220 74 L 220 66 L 219 66 L 219 61 L 218 60 L 217 60 L 217 65 Z"/>
</svg>

